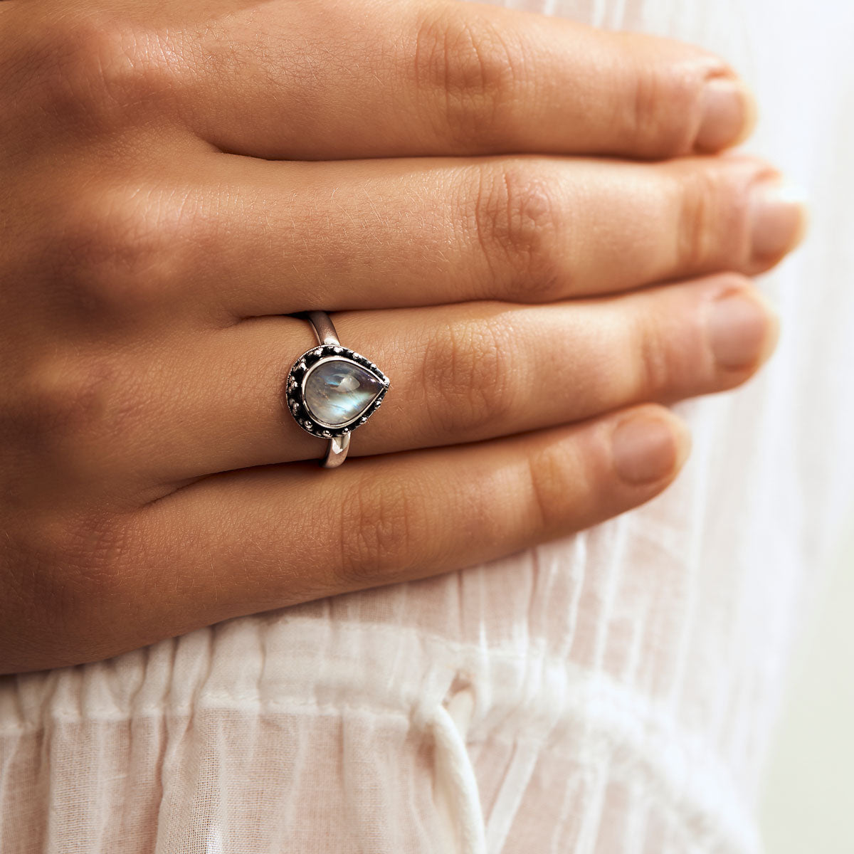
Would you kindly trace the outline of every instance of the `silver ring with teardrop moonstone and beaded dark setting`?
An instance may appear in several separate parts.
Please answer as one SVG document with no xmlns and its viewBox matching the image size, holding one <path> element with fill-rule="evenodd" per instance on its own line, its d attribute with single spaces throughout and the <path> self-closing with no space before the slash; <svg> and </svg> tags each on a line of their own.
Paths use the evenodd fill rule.
<svg viewBox="0 0 854 854">
<path fill-rule="evenodd" d="M 306 350 L 288 374 L 290 414 L 307 433 L 329 439 L 320 465 L 341 465 L 347 458 L 350 433 L 379 409 L 389 390 L 389 377 L 374 363 L 342 347 L 325 312 L 306 312 L 319 347 Z"/>
</svg>

